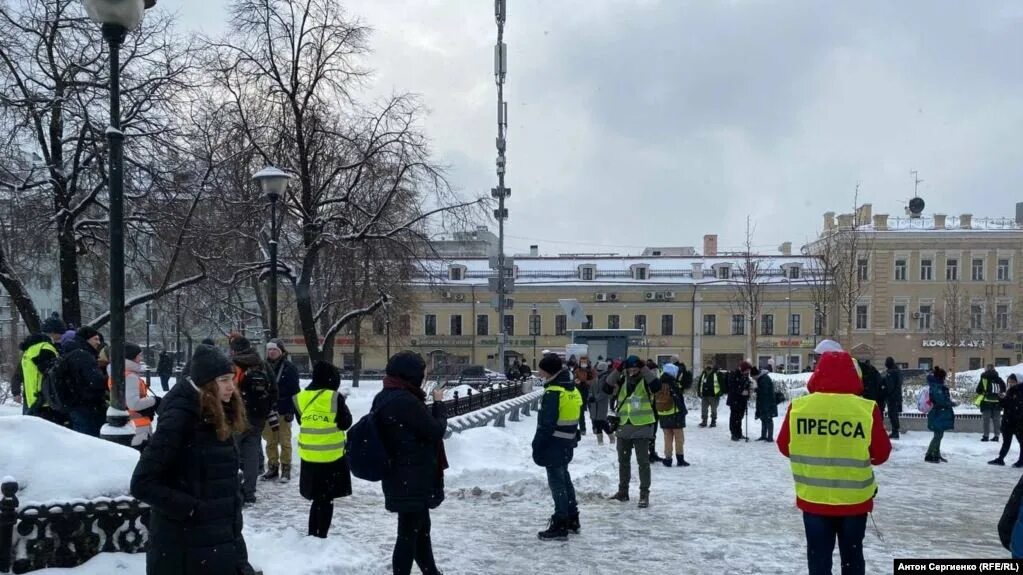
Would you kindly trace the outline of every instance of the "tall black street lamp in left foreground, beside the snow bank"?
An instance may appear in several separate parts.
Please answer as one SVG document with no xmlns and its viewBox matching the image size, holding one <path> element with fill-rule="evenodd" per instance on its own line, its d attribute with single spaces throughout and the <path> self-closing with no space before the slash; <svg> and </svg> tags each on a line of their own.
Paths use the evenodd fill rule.
<svg viewBox="0 0 1023 575">
<path fill-rule="evenodd" d="M 103 40 L 110 50 L 110 125 L 106 128 L 109 145 L 109 227 L 110 227 L 110 407 L 106 425 L 100 431 L 104 439 L 131 445 L 135 426 L 125 409 L 125 198 L 124 138 L 121 131 L 121 44 L 128 32 L 138 28 L 146 8 L 157 0 L 84 0 L 85 11 L 101 25 Z"/>
</svg>

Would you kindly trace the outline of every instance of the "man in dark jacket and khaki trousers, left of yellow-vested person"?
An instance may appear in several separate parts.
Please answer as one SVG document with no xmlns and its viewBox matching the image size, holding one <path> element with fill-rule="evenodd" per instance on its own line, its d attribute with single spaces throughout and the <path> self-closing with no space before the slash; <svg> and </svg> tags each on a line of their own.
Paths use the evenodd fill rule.
<svg viewBox="0 0 1023 575">
<path fill-rule="evenodd" d="M 266 343 L 266 361 L 270 367 L 270 375 L 277 385 L 279 425 L 274 429 L 268 423 L 263 430 L 267 460 L 263 480 L 270 481 L 279 477 L 281 483 L 287 483 L 292 481 L 292 422 L 295 421 L 294 398 L 300 391 L 299 370 L 288 359 L 284 342 L 280 340 Z"/>
</svg>

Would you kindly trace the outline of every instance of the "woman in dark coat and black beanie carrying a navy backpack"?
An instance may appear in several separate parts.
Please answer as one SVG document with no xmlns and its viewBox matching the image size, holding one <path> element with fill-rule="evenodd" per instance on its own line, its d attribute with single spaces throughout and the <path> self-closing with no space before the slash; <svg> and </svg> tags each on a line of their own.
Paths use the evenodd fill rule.
<svg viewBox="0 0 1023 575">
<path fill-rule="evenodd" d="M 392 568 L 407 575 L 412 562 L 424 575 L 437 575 L 430 540 L 430 510 L 444 500 L 444 390 L 426 404 L 422 391 L 427 364 L 419 354 L 402 351 L 388 360 L 384 391 L 373 399 L 381 440 L 391 455 L 391 473 L 382 482 L 387 511 L 398 514 L 398 539 Z"/>
</svg>

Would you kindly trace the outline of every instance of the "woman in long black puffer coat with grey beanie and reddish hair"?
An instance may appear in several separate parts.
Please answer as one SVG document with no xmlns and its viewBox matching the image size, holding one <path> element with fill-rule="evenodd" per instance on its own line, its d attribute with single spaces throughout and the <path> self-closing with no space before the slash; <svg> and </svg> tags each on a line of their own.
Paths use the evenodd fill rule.
<svg viewBox="0 0 1023 575">
<path fill-rule="evenodd" d="M 131 478 L 132 495 L 152 507 L 146 574 L 252 575 L 233 439 L 248 422 L 234 368 L 198 346 L 190 375 L 164 396 Z"/>
</svg>

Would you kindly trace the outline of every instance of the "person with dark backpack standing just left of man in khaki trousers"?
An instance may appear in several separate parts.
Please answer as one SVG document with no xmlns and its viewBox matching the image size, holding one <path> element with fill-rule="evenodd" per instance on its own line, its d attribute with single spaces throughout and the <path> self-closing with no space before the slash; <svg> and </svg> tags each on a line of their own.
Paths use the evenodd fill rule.
<svg viewBox="0 0 1023 575">
<path fill-rule="evenodd" d="M 241 456 L 241 494 L 246 504 L 256 502 L 256 482 L 263 463 L 263 428 L 279 427 L 277 417 L 277 385 L 273 370 L 263 361 L 252 343 L 243 336 L 235 334 L 230 341 L 231 361 L 234 363 L 234 385 L 246 406 L 249 429 L 238 436 L 238 451 Z"/>
</svg>

